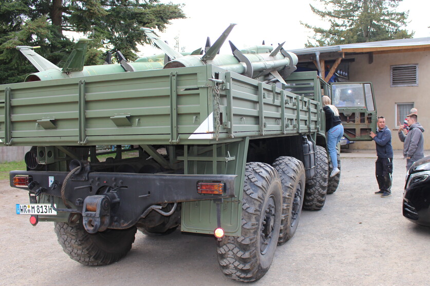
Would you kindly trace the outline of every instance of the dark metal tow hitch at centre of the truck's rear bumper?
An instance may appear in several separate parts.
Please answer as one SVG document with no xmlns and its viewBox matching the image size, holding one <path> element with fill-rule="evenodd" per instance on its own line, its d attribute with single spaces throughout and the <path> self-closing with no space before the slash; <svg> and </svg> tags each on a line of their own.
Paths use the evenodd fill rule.
<svg viewBox="0 0 430 286">
<path fill-rule="evenodd" d="M 110 199 L 106 195 L 88 196 L 82 209 L 84 228 L 88 233 L 107 229 L 110 223 Z"/>
</svg>

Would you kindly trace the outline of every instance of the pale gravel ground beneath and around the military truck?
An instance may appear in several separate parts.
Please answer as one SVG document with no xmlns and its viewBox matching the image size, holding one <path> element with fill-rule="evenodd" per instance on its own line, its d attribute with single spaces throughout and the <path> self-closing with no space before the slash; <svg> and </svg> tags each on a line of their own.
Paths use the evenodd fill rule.
<svg viewBox="0 0 430 286">
<path fill-rule="evenodd" d="M 253 285 L 428 285 L 430 228 L 402 216 L 406 162 L 395 153 L 392 196 L 381 198 L 374 151 L 342 153 L 338 190 L 321 211 L 302 212 L 294 237 L 277 247 Z M 132 251 L 106 267 L 71 260 L 52 222 L 32 227 L 15 214 L 24 191 L 0 181 L 0 285 L 238 285 L 225 278 L 213 237 L 136 235 Z"/>
</svg>

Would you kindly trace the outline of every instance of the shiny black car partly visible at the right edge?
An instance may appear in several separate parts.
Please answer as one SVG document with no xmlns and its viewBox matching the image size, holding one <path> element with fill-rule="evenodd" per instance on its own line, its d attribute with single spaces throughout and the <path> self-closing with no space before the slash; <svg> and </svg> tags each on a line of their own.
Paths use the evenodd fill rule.
<svg viewBox="0 0 430 286">
<path fill-rule="evenodd" d="M 403 216 L 430 227 L 430 156 L 414 163 L 408 171 L 403 194 Z"/>
</svg>

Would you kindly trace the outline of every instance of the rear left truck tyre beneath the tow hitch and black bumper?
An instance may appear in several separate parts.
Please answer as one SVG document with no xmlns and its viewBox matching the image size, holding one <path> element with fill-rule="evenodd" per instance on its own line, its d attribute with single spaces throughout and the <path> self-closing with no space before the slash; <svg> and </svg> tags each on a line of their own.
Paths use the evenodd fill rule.
<svg viewBox="0 0 430 286">
<path fill-rule="evenodd" d="M 120 260 L 132 248 L 136 234 L 136 227 L 90 234 L 85 231 L 82 221 L 74 224 L 55 222 L 54 226 L 63 251 L 71 259 L 91 266 Z"/>
</svg>

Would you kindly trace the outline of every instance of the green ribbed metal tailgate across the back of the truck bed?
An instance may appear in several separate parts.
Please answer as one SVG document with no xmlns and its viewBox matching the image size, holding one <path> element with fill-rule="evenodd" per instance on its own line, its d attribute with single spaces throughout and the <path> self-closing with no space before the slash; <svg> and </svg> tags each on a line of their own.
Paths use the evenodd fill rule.
<svg viewBox="0 0 430 286">
<path fill-rule="evenodd" d="M 204 66 L 4 85 L 0 100 L 8 100 L 0 101 L 0 112 L 2 121 L 9 112 L 13 145 L 121 144 L 130 139 L 169 144 L 181 133 L 192 134 L 208 117 L 207 71 Z M 0 127 L 4 137 L 3 122 Z"/>
</svg>

